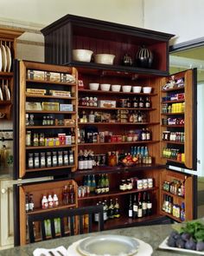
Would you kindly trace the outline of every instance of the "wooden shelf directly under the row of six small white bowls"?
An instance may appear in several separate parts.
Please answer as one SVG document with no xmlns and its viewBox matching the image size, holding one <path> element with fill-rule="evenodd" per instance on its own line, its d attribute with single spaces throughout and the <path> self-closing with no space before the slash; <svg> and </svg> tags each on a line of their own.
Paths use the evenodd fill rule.
<svg viewBox="0 0 204 256">
<path fill-rule="evenodd" d="M 78 89 L 79 94 L 85 93 L 85 94 L 94 94 L 94 95 L 140 95 L 140 96 L 156 96 L 157 94 L 143 94 L 143 93 L 124 93 L 122 91 L 120 92 L 113 92 L 113 91 L 103 91 L 103 90 L 92 90 L 92 89 Z"/>
</svg>

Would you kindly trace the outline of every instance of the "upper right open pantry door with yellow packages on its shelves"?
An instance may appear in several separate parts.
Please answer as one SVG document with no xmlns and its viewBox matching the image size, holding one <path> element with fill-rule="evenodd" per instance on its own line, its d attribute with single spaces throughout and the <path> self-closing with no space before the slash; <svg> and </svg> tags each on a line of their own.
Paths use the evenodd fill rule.
<svg viewBox="0 0 204 256">
<path fill-rule="evenodd" d="M 161 156 L 168 166 L 196 170 L 196 69 L 161 82 Z"/>
</svg>

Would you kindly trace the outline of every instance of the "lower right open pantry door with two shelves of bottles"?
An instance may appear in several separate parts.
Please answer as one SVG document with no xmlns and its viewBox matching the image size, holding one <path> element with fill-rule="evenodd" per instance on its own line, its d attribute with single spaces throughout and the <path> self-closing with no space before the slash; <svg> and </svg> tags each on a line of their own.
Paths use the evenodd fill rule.
<svg viewBox="0 0 204 256">
<path fill-rule="evenodd" d="M 161 171 L 161 214 L 182 222 L 197 217 L 197 176 L 163 169 Z"/>
</svg>

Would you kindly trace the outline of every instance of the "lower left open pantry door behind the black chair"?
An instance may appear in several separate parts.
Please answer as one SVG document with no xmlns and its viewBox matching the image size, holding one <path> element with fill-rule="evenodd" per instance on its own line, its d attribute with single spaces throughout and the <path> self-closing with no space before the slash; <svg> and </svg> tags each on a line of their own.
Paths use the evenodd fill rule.
<svg viewBox="0 0 204 256">
<path fill-rule="evenodd" d="M 27 216 L 29 214 L 78 207 L 77 190 L 77 183 L 73 180 L 41 181 L 16 185 L 15 246 L 22 246 L 29 243 L 27 225 Z M 49 194 L 52 197 L 54 194 L 57 195 L 58 204 L 52 207 L 42 208 L 42 197 L 43 195 L 48 197 Z M 34 203 L 32 209 L 29 209 L 26 205 L 29 200 L 32 200 Z M 35 226 L 36 240 L 40 232 L 40 226 Z"/>
</svg>

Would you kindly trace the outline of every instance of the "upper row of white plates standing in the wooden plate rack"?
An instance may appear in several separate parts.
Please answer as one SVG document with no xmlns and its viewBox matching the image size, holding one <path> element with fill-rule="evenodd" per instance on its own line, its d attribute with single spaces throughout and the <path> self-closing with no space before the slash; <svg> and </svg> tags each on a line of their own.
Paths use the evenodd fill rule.
<svg viewBox="0 0 204 256">
<path fill-rule="evenodd" d="M 9 46 L 2 44 L 0 47 L 0 72 L 10 72 L 10 68 L 11 68 L 10 48 Z"/>
</svg>

